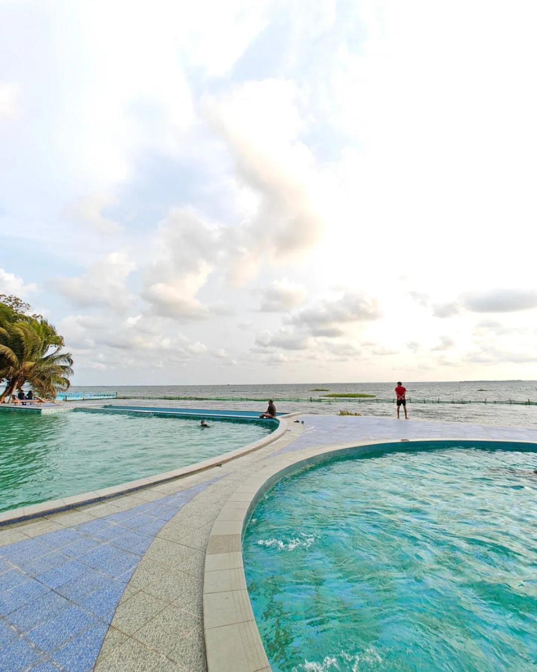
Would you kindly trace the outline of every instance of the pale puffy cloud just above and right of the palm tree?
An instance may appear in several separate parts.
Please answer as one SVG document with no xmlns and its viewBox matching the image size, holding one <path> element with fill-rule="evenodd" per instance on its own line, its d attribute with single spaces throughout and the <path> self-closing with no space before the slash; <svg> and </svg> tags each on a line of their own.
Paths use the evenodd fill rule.
<svg viewBox="0 0 537 672">
<path fill-rule="evenodd" d="M 134 267 L 125 253 L 113 252 L 91 265 L 81 276 L 58 278 L 53 285 L 76 306 L 124 310 L 133 298 L 126 281 Z"/>
</svg>

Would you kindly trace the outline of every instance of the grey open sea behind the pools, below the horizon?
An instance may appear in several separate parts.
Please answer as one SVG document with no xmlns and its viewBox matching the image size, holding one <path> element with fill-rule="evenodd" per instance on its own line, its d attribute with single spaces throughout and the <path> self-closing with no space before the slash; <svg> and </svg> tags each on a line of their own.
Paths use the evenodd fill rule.
<svg viewBox="0 0 537 672">
<path fill-rule="evenodd" d="M 460 382 L 406 382 L 407 411 L 411 418 L 464 423 L 481 423 L 503 427 L 537 427 L 537 405 L 524 406 L 515 401 L 537 401 L 536 380 L 468 380 Z M 395 381 L 356 383 L 296 383 L 260 385 L 140 385 L 140 386 L 72 386 L 70 392 L 116 392 L 118 397 L 135 397 L 124 403 L 151 406 L 156 399 L 170 396 L 219 397 L 218 401 L 164 400 L 159 406 L 206 409 L 244 409 L 264 411 L 264 401 L 236 401 L 238 398 L 275 400 L 279 413 L 328 413 L 351 411 L 361 415 L 395 416 L 392 399 Z M 329 399 L 330 393 L 375 394 L 372 399 Z M 146 397 L 144 399 L 144 397 Z M 379 399 L 379 401 L 377 401 Z M 435 400 L 436 403 L 432 403 Z M 483 403 L 484 401 L 487 403 Z M 509 403 L 511 400 L 513 403 Z M 447 402 L 447 403 L 438 403 Z M 461 404 L 461 401 L 471 402 Z M 504 403 L 498 403 L 498 402 Z M 494 403 L 497 402 L 497 403 Z M 505 403 L 507 402 L 507 403 Z M 103 402 L 85 402 L 102 404 Z M 108 402 L 106 402 L 108 403 Z M 117 402 L 119 403 L 119 401 Z M 402 411 L 401 411 L 402 415 Z"/>
</svg>

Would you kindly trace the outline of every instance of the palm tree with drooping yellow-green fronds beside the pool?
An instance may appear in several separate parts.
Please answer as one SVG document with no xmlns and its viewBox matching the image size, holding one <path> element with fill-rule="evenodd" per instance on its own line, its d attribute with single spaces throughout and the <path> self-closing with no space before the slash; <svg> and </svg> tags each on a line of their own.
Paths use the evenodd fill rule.
<svg viewBox="0 0 537 672">
<path fill-rule="evenodd" d="M 72 357 L 57 342 L 56 329 L 44 319 L 0 326 L 0 380 L 7 381 L 0 403 L 26 382 L 36 394 L 49 398 L 69 388 Z"/>
</svg>

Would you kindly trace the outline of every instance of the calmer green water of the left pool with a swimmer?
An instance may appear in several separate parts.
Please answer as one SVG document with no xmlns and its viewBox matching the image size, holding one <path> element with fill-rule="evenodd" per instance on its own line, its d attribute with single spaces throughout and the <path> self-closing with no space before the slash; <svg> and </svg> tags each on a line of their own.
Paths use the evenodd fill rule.
<svg viewBox="0 0 537 672">
<path fill-rule="evenodd" d="M 271 421 L 136 413 L 0 413 L 0 511 L 79 495 L 246 446 Z"/>
</svg>

